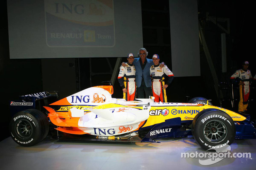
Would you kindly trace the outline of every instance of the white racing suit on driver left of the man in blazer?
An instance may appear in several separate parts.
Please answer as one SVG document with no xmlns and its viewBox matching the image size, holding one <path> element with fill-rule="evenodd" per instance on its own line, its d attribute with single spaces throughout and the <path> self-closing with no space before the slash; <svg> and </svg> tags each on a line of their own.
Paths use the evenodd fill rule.
<svg viewBox="0 0 256 170">
<path fill-rule="evenodd" d="M 124 93 L 123 99 L 126 101 L 134 101 L 136 98 L 137 86 L 135 81 L 135 66 L 133 64 L 125 63 L 126 66 L 121 66 L 118 82 L 122 89 L 126 88 L 127 93 Z"/>
</svg>

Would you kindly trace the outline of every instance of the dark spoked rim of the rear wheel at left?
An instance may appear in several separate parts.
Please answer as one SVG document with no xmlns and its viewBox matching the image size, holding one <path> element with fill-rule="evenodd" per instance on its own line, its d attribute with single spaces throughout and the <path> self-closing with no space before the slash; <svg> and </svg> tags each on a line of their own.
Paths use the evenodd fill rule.
<svg viewBox="0 0 256 170">
<path fill-rule="evenodd" d="M 21 138 L 28 138 L 33 132 L 32 124 L 27 120 L 20 120 L 16 124 L 16 132 Z"/>
</svg>

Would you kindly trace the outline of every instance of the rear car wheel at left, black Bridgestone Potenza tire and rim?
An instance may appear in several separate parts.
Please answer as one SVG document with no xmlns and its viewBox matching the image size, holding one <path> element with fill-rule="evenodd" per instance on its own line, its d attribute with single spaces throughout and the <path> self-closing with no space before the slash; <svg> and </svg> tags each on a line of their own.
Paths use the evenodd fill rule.
<svg viewBox="0 0 256 170">
<path fill-rule="evenodd" d="M 16 113 L 10 122 L 12 139 L 21 146 L 32 146 L 44 140 L 49 122 L 44 113 L 36 109 Z"/>
</svg>

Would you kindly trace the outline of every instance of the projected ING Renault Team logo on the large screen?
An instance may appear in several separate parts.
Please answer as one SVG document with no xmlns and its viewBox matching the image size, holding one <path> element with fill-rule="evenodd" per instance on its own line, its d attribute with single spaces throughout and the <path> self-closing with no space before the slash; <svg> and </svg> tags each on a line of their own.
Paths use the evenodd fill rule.
<svg viewBox="0 0 256 170">
<path fill-rule="evenodd" d="M 113 0 L 44 0 L 50 47 L 113 47 Z"/>
</svg>

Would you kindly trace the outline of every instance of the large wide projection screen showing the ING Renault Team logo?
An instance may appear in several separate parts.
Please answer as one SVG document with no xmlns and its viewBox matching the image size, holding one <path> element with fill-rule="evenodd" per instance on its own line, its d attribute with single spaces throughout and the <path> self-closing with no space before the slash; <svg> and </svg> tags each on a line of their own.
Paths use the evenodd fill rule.
<svg viewBox="0 0 256 170">
<path fill-rule="evenodd" d="M 138 0 L 8 0 L 11 59 L 124 57 L 143 47 Z"/>
</svg>

